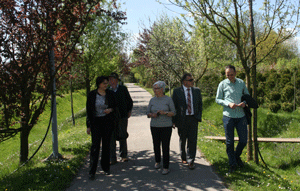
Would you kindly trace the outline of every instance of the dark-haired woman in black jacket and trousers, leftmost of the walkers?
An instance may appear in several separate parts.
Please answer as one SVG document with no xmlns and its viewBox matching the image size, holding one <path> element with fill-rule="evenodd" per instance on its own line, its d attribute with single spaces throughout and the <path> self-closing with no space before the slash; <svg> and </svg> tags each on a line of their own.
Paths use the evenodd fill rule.
<svg viewBox="0 0 300 191">
<path fill-rule="evenodd" d="M 86 102 L 87 134 L 92 133 L 90 153 L 90 179 L 95 179 L 99 159 L 100 142 L 102 140 L 101 167 L 105 174 L 110 174 L 110 139 L 115 127 L 116 99 L 107 89 L 108 78 L 100 76 L 96 79 L 97 89 L 89 93 Z"/>
</svg>

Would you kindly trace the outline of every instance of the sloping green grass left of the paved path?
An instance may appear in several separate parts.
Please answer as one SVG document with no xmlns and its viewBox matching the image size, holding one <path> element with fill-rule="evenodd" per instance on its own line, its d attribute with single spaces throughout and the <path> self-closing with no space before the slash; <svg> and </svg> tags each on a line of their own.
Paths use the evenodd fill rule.
<svg viewBox="0 0 300 191">
<path fill-rule="evenodd" d="M 25 166 L 19 168 L 19 136 L 0 144 L 0 190 L 64 190 L 83 164 L 90 148 L 90 136 L 86 134 L 84 91 L 74 96 L 76 125 L 71 122 L 70 96 L 57 98 L 58 146 L 63 160 L 44 161 L 52 154 L 52 132 L 36 156 Z M 49 106 L 48 106 L 49 108 Z M 29 157 L 42 141 L 50 111 L 47 109 L 29 136 Z"/>
</svg>

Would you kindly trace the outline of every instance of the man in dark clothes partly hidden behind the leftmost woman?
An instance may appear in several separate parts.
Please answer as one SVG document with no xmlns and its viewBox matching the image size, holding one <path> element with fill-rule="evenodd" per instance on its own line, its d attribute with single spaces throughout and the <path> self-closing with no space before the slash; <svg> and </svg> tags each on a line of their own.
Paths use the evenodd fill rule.
<svg viewBox="0 0 300 191">
<path fill-rule="evenodd" d="M 118 129 L 113 132 L 113 136 L 111 139 L 110 145 L 110 164 L 115 164 L 117 162 L 116 157 L 116 139 L 119 140 L 120 143 L 120 157 L 122 158 L 122 162 L 127 162 L 127 126 L 128 126 L 128 118 L 131 116 L 131 110 L 133 107 L 133 101 L 130 97 L 128 89 L 126 86 L 119 84 L 119 75 L 115 72 L 112 72 L 109 75 L 109 85 L 110 89 L 114 92 L 117 107 L 120 113 L 120 120 Z"/>
</svg>

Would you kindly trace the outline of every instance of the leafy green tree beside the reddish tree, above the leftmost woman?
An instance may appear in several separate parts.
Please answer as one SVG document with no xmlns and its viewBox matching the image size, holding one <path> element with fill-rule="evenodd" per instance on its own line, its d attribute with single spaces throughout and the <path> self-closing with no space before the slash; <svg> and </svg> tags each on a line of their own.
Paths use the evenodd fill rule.
<svg viewBox="0 0 300 191">
<path fill-rule="evenodd" d="M 83 60 L 79 62 L 79 70 L 85 71 L 87 94 L 91 89 L 91 81 L 99 75 L 109 74 L 116 70 L 118 55 L 122 52 L 126 34 L 121 32 L 120 20 L 125 20 L 123 12 L 117 12 L 118 18 L 110 15 L 97 16 L 86 27 L 81 38 Z"/>
</svg>

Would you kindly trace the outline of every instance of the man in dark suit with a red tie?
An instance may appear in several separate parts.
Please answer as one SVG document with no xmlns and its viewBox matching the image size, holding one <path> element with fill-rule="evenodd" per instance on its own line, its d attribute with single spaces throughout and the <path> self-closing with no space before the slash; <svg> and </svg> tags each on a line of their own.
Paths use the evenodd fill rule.
<svg viewBox="0 0 300 191">
<path fill-rule="evenodd" d="M 172 96 L 176 109 L 173 124 L 178 128 L 182 163 L 188 163 L 189 168 L 194 169 L 198 122 L 202 120 L 202 96 L 200 89 L 193 87 L 194 79 L 190 73 L 182 76 L 181 83 L 182 86 L 176 88 Z"/>
</svg>

